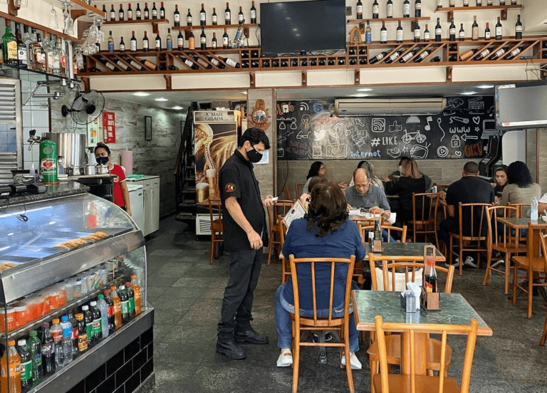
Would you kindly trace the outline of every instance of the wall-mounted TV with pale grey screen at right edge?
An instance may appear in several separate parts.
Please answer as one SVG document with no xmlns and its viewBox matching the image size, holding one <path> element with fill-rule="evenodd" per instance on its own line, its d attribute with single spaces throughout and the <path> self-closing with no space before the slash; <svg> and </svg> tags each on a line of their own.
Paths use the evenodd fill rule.
<svg viewBox="0 0 547 393">
<path fill-rule="evenodd" d="M 516 130 L 547 127 L 547 84 L 496 86 L 496 128 Z"/>
</svg>

